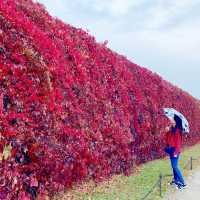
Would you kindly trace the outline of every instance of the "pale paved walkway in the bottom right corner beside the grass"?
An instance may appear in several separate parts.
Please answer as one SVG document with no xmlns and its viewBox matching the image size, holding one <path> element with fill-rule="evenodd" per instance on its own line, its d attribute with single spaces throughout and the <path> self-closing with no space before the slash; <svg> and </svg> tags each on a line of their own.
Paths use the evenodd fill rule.
<svg viewBox="0 0 200 200">
<path fill-rule="evenodd" d="M 184 190 L 171 189 L 165 200 L 200 200 L 200 169 L 187 178 L 187 188 Z"/>
</svg>

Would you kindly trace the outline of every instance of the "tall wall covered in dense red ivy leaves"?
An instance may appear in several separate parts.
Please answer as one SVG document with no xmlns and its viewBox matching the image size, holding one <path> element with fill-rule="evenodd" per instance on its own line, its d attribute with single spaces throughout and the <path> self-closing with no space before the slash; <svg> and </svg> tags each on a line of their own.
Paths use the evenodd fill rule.
<svg viewBox="0 0 200 200">
<path fill-rule="evenodd" d="M 163 107 L 188 118 L 185 144 L 200 141 L 198 100 L 42 5 L 0 1 L 0 152 L 11 147 L 0 199 L 42 199 L 163 157 Z"/>
</svg>

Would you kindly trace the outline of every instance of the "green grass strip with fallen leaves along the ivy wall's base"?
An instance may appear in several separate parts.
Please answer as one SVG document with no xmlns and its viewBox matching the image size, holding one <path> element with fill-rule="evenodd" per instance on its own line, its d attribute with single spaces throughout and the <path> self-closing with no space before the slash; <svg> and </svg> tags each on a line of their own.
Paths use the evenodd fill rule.
<svg viewBox="0 0 200 200">
<path fill-rule="evenodd" d="M 189 174 L 190 157 L 200 158 L 200 144 L 185 148 L 180 158 L 180 167 L 188 163 L 183 170 L 184 176 Z M 199 160 L 194 161 L 197 167 Z M 140 200 L 156 183 L 159 174 L 171 174 L 168 158 L 155 160 L 139 166 L 131 176 L 117 175 L 112 179 L 95 185 L 94 182 L 83 183 L 72 190 L 57 195 L 54 200 Z M 170 177 L 164 178 L 163 195 L 167 191 L 167 182 Z M 146 200 L 160 200 L 158 187 Z"/>
</svg>

